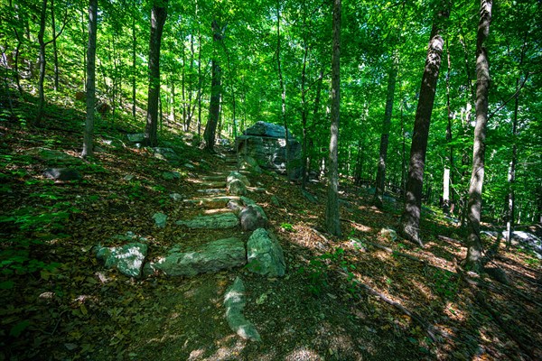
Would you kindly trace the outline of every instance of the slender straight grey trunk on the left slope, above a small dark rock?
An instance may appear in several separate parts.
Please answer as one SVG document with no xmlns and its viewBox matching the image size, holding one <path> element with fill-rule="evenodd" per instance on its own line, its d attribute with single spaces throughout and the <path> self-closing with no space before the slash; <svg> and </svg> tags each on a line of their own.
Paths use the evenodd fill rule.
<svg viewBox="0 0 542 361">
<path fill-rule="evenodd" d="M 94 138 L 94 106 L 96 103 L 96 32 L 98 28 L 98 0 L 89 0 L 89 45 L 87 47 L 87 122 L 83 134 L 81 157 L 91 157 Z"/>
</svg>

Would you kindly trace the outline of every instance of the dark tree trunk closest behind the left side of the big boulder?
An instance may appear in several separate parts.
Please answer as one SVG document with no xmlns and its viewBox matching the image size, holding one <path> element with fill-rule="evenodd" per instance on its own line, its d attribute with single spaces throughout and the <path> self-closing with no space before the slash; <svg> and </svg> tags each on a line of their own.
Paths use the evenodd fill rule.
<svg viewBox="0 0 542 361">
<path fill-rule="evenodd" d="M 212 22 L 213 42 L 215 43 L 215 50 L 219 48 L 219 42 L 222 41 L 222 32 L 220 30 L 217 21 Z M 220 69 L 220 62 L 218 59 L 210 60 L 211 62 L 211 80 L 210 80 L 210 106 L 209 106 L 209 120 L 205 126 L 203 132 L 203 138 L 205 138 L 205 147 L 208 151 L 214 152 L 215 136 L 217 131 L 217 125 L 220 118 L 220 94 L 222 92 L 222 70 Z"/>
</svg>

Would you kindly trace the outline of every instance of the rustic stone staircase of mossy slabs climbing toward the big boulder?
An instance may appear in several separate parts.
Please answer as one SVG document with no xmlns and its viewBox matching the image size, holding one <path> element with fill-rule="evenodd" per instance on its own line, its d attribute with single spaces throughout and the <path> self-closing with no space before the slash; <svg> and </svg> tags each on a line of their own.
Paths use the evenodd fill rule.
<svg viewBox="0 0 542 361">
<path fill-rule="evenodd" d="M 184 227 L 192 237 L 215 240 L 196 249 L 187 249 L 182 240 L 164 255 L 146 260 L 147 245 L 134 242 L 119 247 L 101 247 L 100 258 L 108 267 L 117 267 L 131 277 L 182 276 L 217 273 L 246 266 L 248 271 L 266 277 L 285 274 L 285 258 L 276 237 L 265 229 L 268 224 L 263 208 L 246 197 L 250 187 L 250 173 L 238 171 L 236 155 L 217 154 L 220 170 L 202 175 L 200 189 L 192 199 L 183 199 L 185 209 L 198 209 L 199 216 L 168 221 L 165 227 Z M 193 214 L 194 212 L 187 212 Z M 250 235 L 250 236 L 248 236 Z M 143 245 L 142 245 L 143 244 Z M 136 250 L 136 257 L 135 252 Z M 115 258 L 117 257 L 117 258 Z M 239 337 L 259 341 L 256 328 L 243 317 L 245 292 L 237 277 L 224 296 L 224 306 L 230 329 Z"/>
</svg>

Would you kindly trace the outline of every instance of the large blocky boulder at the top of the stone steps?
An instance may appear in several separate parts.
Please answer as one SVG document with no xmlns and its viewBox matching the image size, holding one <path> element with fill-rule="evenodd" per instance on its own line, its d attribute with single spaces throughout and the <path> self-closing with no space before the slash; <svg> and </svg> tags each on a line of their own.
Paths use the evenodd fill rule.
<svg viewBox="0 0 542 361">
<path fill-rule="evenodd" d="M 253 158 L 268 171 L 286 174 L 285 128 L 266 122 L 257 122 L 236 139 L 238 153 L 247 160 Z M 288 161 L 290 177 L 301 177 L 301 143 L 288 132 Z"/>
</svg>

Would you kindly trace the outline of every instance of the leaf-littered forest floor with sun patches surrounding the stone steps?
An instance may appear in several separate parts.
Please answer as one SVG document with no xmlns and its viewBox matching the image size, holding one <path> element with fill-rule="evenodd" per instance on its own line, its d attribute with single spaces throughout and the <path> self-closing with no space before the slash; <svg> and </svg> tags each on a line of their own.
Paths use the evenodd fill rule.
<svg viewBox="0 0 542 361">
<path fill-rule="evenodd" d="M 425 248 L 392 240 L 381 229 L 397 229 L 401 203 L 380 211 L 347 180 L 344 236 L 334 237 L 323 229 L 324 181 L 308 186 L 313 203 L 282 176 L 248 176 L 266 190 L 249 197 L 284 249 L 284 277 L 238 268 L 136 280 L 108 270 L 92 247 L 128 231 L 148 239 L 151 259 L 218 236 L 175 226 L 203 210 L 169 194 L 201 196 L 201 177 L 224 161 L 164 132 L 182 158 L 172 165 L 129 146 L 136 127 L 101 123 L 99 152 L 76 164 L 83 180 L 55 182 L 42 176 L 50 165 L 37 150 L 77 157 L 84 115 L 50 106 L 45 126 L 32 128 L 24 105 L 14 106 L 19 116 L 0 121 L 0 360 L 542 359 L 542 268 L 532 252 L 487 237 L 496 254 L 486 273 L 463 273 L 463 231 L 439 210 L 425 208 Z M 164 171 L 181 179 L 164 180 Z M 164 229 L 154 227 L 157 211 L 171 219 Z M 224 317 L 224 292 L 238 276 L 261 342 L 239 338 Z"/>
</svg>

